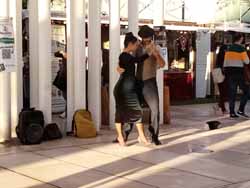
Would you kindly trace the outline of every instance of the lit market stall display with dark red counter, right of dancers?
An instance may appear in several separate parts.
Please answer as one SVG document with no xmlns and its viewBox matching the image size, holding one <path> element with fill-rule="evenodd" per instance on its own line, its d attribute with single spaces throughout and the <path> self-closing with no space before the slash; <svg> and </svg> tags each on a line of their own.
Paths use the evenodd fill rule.
<svg viewBox="0 0 250 188">
<path fill-rule="evenodd" d="M 188 100 L 194 97 L 195 32 L 167 31 L 169 69 L 165 85 L 170 89 L 170 100 Z"/>
</svg>

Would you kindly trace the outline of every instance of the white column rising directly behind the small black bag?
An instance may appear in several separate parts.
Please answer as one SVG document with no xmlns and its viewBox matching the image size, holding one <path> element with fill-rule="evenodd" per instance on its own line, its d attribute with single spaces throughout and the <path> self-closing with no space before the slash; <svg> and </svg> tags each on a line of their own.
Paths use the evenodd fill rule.
<svg viewBox="0 0 250 188">
<path fill-rule="evenodd" d="M 45 123 L 51 123 L 51 21 L 50 0 L 38 0 L 38 49 L 39 49 L 39 110 Z"/>
</svg>

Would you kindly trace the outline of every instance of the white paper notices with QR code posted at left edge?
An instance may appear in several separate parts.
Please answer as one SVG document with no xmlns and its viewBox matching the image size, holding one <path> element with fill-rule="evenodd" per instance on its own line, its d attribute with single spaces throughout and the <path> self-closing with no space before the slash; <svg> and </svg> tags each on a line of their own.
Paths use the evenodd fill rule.
<svg viewBox="0 0 250 188">
<path fill-rule="evenodd" d="M 12 19 L 0 18 L 0 72 L 15 72 L 14 33 Z"/>
</svg>

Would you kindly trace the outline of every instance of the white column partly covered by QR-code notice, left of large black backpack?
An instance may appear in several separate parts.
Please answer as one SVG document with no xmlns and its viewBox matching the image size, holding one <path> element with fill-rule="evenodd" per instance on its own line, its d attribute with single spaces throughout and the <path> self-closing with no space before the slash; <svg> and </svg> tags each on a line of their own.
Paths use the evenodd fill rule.
<svg viewBox="0 0 250 188">
<path fill-rule="evenodd" d="M 11 124 L 13 130 L 18 123 L 18 113 L 23 107 L 23 58 L 22 58 L 22 2 L 10 1 L 10 16 L 13 18 L 15 38 L 16 72 L 11 73 Z"/>
</svg>

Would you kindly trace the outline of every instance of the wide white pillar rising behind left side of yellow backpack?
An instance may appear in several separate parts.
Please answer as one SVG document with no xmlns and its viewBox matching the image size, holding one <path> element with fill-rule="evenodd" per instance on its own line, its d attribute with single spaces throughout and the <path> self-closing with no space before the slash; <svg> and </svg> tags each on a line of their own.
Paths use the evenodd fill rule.
<svg viewBox="0 0 250 188">
<path fill-rule="evenodd" d="M 67 131 L 74 111 L 86 109 L 85 1 L 67 0 Z"/>
</svg>

